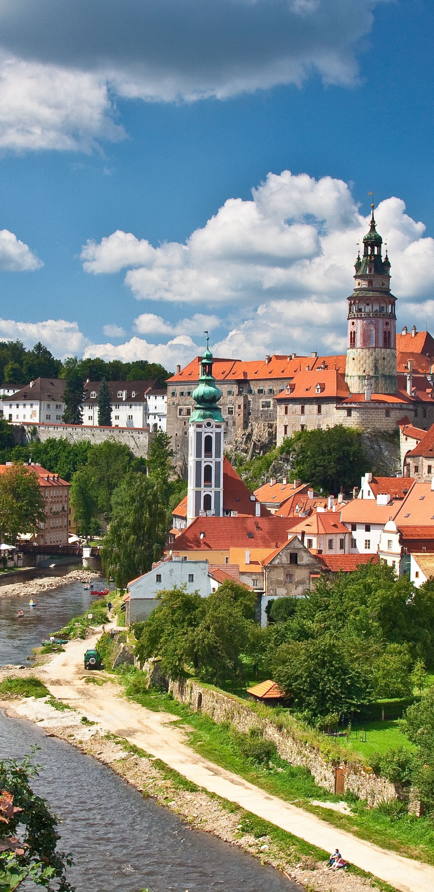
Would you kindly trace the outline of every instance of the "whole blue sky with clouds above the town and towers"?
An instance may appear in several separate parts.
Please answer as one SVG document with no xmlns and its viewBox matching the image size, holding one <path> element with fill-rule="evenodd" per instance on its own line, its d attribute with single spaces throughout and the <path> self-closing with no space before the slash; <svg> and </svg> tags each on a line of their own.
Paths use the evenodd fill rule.
<svg viewBox="0 0 434 892">
<path fill-rule="evenodd" d="M 0 2 L 0 337 L 340 351 L 371 189 L 398 320 L 430 326 L 429 0 L 60 8 Z"/>
</svg>

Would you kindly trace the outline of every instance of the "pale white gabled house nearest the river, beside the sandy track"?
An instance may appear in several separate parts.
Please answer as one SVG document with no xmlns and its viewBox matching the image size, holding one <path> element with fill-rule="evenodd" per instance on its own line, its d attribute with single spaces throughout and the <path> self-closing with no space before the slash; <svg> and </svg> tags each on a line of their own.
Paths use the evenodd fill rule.
<svg viewBox="0 0 434 892">
<path fill-rule="evenodd" d="M 188 594 L 198 591 L 202 598 L 218 587 L 209 573 L 207 560 L 181 560 L 179 556 L 154 564 L 149 573 L 138 576 L 128 583 L 126 623 L 130 625 L 146 620 L 154 607 L 158 607 L 158 595 L 170 591 L 175 585 L 185 585 Z"/>
</svg>

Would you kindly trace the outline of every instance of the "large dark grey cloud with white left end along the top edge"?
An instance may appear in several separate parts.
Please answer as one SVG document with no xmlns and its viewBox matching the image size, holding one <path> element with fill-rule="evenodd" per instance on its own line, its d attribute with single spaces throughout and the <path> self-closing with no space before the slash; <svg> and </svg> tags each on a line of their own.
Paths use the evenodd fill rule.
<svg viewBox="0 0 434 892">
<path fill-rule="evenodd" d="M 357 82 L 384 0 L 14 0 L 0 4 L 0 145 L 84 149 L 123 136 L 113 98 L 196 101 L 312 74 Z"/>
</svg>

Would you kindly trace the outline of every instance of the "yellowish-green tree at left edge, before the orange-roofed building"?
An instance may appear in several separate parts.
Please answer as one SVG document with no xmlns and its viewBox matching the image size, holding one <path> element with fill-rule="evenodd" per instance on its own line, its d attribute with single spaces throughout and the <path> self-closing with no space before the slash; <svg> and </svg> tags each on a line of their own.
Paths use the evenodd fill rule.
<svg viewBox="0 0 434 892">
<path fill-rule="evenodd" d="M 13 463 L 0 475 L 0 527 L 4 539 L 14 545 L 18 533 L 38 533 L 46 520 L 38 475 Z"/>
</svg>

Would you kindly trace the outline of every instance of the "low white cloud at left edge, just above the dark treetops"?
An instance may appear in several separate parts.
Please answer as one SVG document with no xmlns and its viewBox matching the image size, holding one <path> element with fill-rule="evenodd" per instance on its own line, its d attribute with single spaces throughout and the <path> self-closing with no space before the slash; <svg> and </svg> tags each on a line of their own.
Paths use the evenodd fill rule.
<svg viewBox="0 0 434 892">
<path fill-rule="evenodd" d="M 19 339 L 28 349 L 38 341 L 46 344 L 57 359 L 80 355 L 89 340 L 79 330 L 77 322 L 65 319 L 46 319 L 45 322 L 15 322 L 0 318 L 0 339 Z"/>
</svg>

